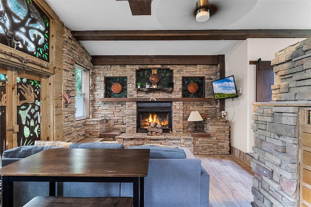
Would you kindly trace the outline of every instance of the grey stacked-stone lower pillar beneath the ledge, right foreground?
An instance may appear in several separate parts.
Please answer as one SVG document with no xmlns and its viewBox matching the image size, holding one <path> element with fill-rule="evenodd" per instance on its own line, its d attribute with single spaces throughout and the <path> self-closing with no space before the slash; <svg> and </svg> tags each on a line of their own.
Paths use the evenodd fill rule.
<svg viewBox="0 0 311 207">
<path fill-rule="evenodd" d="M 298 106 L 254 106 L 254 206 L 295 207 L 299 192 Z"/>
</svg>

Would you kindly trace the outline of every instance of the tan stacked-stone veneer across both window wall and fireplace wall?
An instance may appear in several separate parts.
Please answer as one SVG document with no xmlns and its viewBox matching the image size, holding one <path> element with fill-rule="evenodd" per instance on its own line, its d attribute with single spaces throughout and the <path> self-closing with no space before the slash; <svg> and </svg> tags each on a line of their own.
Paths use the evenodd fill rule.
<svg viewBox="0 0 311 207">
<path fill-rule="evenodd" d="M 150 98 L 181 98 L 182 77 L 198 76 L 206 77 L 205 97 L 212 97 L 211 82 L 219 78 L 217 65 L 104 65 L 93 66 L 91 56 L 85 48 L 76 41 L 68 28 L 63 28 L 63 91 L 70 91 L 72 103 L 59 108 L 63 110 L 63 140 L 77 142 L 85 136 L 92 126 L 86 124 L 86 120 L 75 120 L 75 64 L 90 69 L 90 118 L 106 119 L 107 129 L 120 129 L 123 132 L 136 132 L 136 102 L 101 102 L 97 98 L 103 98 L 105 92 L 105 77 L 126 76 L 127 97 Z M 174 90 L 173 93 L 157 91 L 152 93 L 137 92 L 136 70 L 142 68 L 170 68 L 173 69 Z M 63 102 L 65 103 L 65 101 Z M 184 133 L 189 127 L 187 121 L 190 111 L 198 110 L 203 118 L 219 116 L 219 102 L 173 102 L 173 133 Z M 87 134 L 87 135 L 86 135 Z"/>
</svg>

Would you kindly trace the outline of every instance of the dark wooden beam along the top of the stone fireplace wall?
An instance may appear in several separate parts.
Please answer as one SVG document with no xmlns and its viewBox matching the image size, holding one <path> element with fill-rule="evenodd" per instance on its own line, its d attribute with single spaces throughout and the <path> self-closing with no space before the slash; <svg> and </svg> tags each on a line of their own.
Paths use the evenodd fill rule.
<svg viewBox="0 0 311 207">
<path fill-rule="evenodd" d="M 93 65 L 218 65 L 222 55 L 92 55 Z"/>
</svg>

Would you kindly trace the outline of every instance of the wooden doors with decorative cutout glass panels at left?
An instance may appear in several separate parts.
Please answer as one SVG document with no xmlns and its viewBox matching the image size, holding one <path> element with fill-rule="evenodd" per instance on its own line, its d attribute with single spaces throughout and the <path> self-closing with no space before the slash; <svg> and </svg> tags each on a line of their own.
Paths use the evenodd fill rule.
<svg viewBox="0 0 311 207">
<path fill-rule="evenodd" d="M 41 81 L 43 75 L 24 69 L 0 68 L 0 153 L 33 145 L 41 135 Z"/>
</svg>

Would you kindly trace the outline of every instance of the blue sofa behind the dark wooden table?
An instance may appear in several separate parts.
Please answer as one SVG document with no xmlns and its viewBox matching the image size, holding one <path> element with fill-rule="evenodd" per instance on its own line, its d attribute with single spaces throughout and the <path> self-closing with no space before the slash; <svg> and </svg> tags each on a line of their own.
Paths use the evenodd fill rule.
<svg viewBox="0 0 311 207">
<path fill-rule="evenodd" d="M 121 144 L 113 144 L 115 145 L 113 148 L 123 148 Z M 112 148 L 112 145 L 75 143 L 69 146 L 69 148 L 107 147 Z M 146 207 L 208 207 L 209 175 L 201 166 L 201 160 L 196 159 L 188 148 L 138 146 L 129 147 L 128 150 L 137 148 L 150 149 L 148 176 L 144 182 Z M 2 163 L 5 159 L 3 157 Z M 24 192 L 30 191 L 29 188 L 27 190 L 27 185 L 29 184 L 23 186 Z M 48 192 L 49 188 L 45 186 L 44 189 Z M 71 197 L 132 197 L 133 185 L 131 183 L 64 182 L 57 184 L 57 191 L 58 195 Z M 18 194 L 17 200 L 20 202 L 18 201 L 17 204 L 23 204 L 28 199 L 31 200 L 32 197 L 42 194 L 34 192 L 30 193 L 32 195 L 25 196 L 24 192 Z"/>
</svg>

